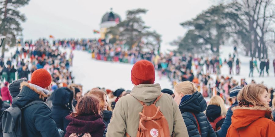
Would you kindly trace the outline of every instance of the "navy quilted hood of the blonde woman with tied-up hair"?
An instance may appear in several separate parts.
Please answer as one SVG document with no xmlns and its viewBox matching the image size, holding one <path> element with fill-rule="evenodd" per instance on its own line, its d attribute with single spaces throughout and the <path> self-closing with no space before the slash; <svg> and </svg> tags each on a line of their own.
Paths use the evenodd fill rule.
<svg viewBox="0 0 275 137">
<path fill-rule="evenodd" d="M 206 110 L 207 104 L 204 100 L 202 94 L 198 91 L 192 94 L 192 96 L 179 104 L 181 113 L 183 112 L 204 112 Z"/>
</svg>

